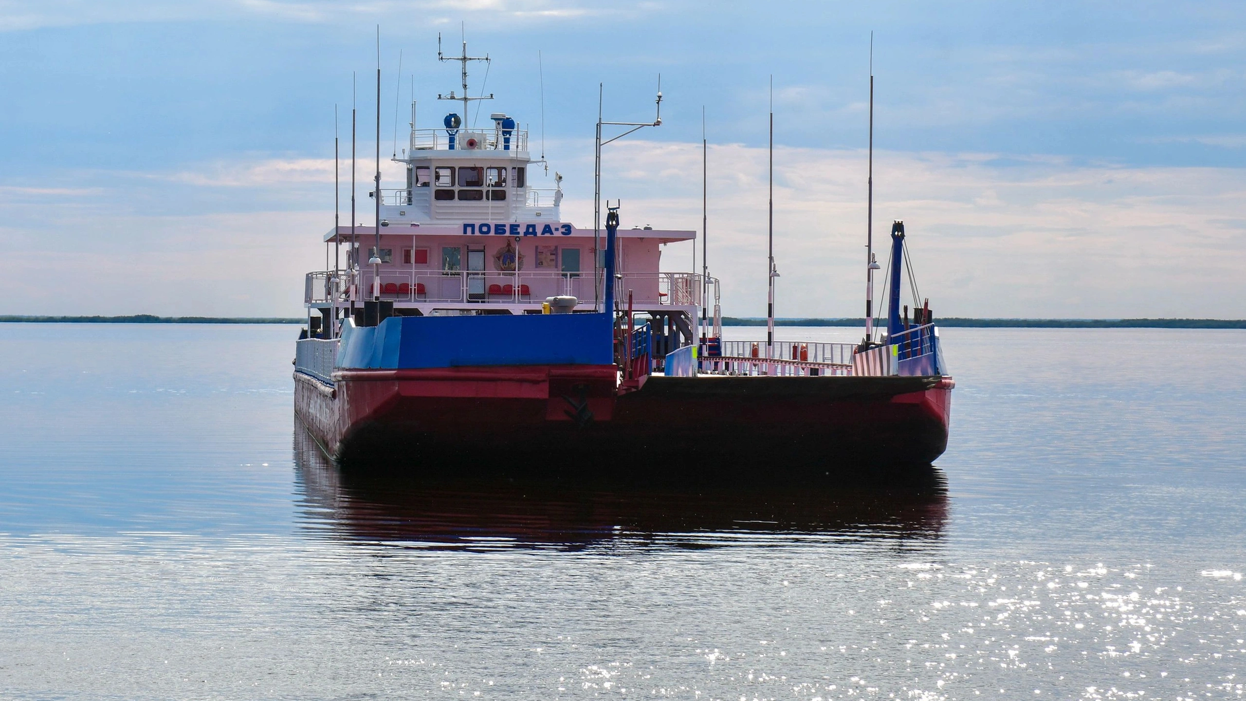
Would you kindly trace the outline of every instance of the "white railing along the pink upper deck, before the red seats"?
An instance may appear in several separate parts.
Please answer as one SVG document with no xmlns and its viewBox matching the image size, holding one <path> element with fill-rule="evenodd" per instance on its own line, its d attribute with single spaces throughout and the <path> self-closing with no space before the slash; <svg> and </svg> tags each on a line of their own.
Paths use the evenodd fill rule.
<svg viewBox="0 0 1246 701">
<path fill-rule="evenodd" d="M 700 276 L 693 273 L 621 273 L 616 281 L 616 299 L 627 303 L 628 292 L 632 302 L 640 308 L 653 306 L 695 307 L 700 304 Z M 373 271 L 365 268 L 354 279 L 343 271 L 316 271 L 308 273 L 304 302 L 308 304 L 331 304 L 335 301 L 346 302 L 351 298 L 351 282 L 355 301 L 373 298 Z M 593 273 L 561 272 L 498 272 L 498 271 L 455 271 L 441 272 L 429 269 L 386 271 L 379 276 L 381 299 L 391 302 L 446 302 L 464 304 L 541 304 L 546 297 L 569 294 L 578 297 L 581 303 L 592 304 Z"/>
</svg>

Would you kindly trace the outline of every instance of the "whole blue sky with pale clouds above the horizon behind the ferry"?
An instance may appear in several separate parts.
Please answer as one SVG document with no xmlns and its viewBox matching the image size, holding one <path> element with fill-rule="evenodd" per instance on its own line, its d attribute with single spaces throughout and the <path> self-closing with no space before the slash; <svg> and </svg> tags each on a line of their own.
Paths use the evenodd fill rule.
<svg viewBox="0 0 1246 701">
<path fill-rule="evenodd" d="M 465 36 L 577 226 L 599 86 L 650 120 L 660 76 L 662 126 L 603 153 L 624 227 L 701 228 L 704 110 L 725 314 L 765 314 L 771 76 L 776 316 L 862 314 L 873 32 L 873 234 L 905 221 L 936 316 L 1246 318 L 1246 6 L 1215 0 L 0 0 L 0 314 L 300 316 L 353 76 L 375 153 L 378 25 L 383 157 L 412 97 L 452 109 Z"/>
</svg>

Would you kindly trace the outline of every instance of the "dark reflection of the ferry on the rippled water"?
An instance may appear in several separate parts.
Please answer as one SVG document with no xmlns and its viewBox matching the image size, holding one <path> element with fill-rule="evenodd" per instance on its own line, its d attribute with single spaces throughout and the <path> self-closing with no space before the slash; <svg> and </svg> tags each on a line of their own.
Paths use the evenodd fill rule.
<svg viewBox="0 0 1246 701">
<path fill-rule="evenodd" d="M 851 483 L 719 484 L 711 471 L 695 485 L 430 480 L 341 470 L 302 429 L 294 462 L 309 526 L 368 541 L 579 546 L 677 535 L 680 543 L 725 544 L 786 534 L 922 546 L 947 520 L 946 481 L 933 467 Z"/>
</svg>

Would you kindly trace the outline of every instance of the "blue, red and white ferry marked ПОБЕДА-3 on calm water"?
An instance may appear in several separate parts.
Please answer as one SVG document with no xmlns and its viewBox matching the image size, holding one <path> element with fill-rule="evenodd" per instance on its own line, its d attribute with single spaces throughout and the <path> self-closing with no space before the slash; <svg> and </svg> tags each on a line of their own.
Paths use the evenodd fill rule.
<svg viewBox="0 0 1246 701">
<path fill-rule="evenodd" d="M 450 60 L 466 96 L 477 59 L 465 45 Z M 476 100 L 445 99 L 464 115 Z M 928 306 L 900 311 L 902 223 L 885 337 L 724 341 L 718 279 L 662 271 L 663 246 L 697 232 L 623 227 L 617 207 L 604 231 L 567 222 L 561 176 L 533 187 L 513 116 L 414 117 L 412 105 L 394 156 L 405 182 L 381 187 L 378 165 L 374 226 L 331 228 L 323 242 L 345 263 L 307 274 L 295 414 L 329 457 L 416 474 L 725 475 L 928 464 L 944 450 L 954 383 Z"/>
</svg>

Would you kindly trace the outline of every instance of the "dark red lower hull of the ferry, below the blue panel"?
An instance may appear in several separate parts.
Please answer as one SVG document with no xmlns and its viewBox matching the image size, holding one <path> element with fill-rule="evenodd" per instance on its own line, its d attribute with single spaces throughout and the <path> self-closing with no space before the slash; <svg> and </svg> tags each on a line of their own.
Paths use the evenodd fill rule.
<svg viewBox="0 0 1246 701">
<path fill-rule="evenodd" d="M 830 471 L 928 464 L 951 378 L 665 378 L 616 394 L 614 365 L 295 373 L 295 412 L 345 463 L 445 471 Z M 764 463 L 755 463 L 764 459 Z"/>
</svg>

